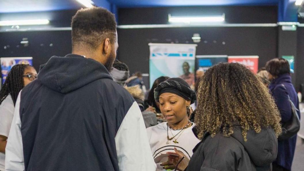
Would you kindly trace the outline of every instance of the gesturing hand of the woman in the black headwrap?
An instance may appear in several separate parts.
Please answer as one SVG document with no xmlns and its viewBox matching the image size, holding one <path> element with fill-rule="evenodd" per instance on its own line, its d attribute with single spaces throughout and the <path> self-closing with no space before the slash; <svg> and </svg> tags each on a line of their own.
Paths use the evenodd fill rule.
<svg viewBox="0 0 304 171">
<path fill-rule="evenodd" d="M 169 161 L 176 167 L 176 165 L 178 164 L 178 162 L 180 162 L 180 160 L 182 159 L 182 157 L 184 157 L 184 159 L 181 160 L 181 162 L 178 164 L 178 170 L 181 170 L 181 171 L 184 171 L 188 164 L 189 164 L 189 161 L 190 159 L 188 159 L 188 157 L 178 151 L 176 148 L 174 148 L 174 152 L 167 152 L 167 154 L 169 154 L 168 158 L 169 158 Z"/>
</svg>

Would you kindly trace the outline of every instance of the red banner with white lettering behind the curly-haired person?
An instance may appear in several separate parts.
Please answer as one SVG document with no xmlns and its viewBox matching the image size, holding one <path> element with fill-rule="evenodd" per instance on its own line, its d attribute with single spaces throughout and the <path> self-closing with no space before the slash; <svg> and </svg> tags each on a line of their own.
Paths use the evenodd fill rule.
<svg viewBox="0 0 304 171">
<path fill-rule="evenodd" d="M 243 64 L 256 74 L 259 67 L 259 56 L 228 56 L 228 62 Z"/>
</svg>

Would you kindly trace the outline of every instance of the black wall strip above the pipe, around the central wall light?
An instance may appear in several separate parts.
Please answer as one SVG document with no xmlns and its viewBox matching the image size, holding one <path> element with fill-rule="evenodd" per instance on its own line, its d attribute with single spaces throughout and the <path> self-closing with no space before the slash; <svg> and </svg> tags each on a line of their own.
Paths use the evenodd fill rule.
<svg viewBox="0 0 304 171">
<path fill-rule="evenodd" d="M 277 6 L 205 6 L 122 8 L 118 10 L 119 25 L 168 24 L 171 16 L 222 15 L 226 23 L 277 23 Z"/>
</svg>

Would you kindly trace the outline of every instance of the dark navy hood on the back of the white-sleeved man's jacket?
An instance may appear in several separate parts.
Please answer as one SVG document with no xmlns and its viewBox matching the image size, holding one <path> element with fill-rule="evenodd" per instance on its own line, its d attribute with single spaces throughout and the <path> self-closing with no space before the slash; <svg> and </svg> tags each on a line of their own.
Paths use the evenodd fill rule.
<svg viewBox="0 0 304 171">
<path fill-rule="evenodd" d="M 37 79 L 48 88 L 68 93 L 98 79 L 112 79 L 101 63 L 81 55 L 53 56 L 40 66 Z"/>
</svg>

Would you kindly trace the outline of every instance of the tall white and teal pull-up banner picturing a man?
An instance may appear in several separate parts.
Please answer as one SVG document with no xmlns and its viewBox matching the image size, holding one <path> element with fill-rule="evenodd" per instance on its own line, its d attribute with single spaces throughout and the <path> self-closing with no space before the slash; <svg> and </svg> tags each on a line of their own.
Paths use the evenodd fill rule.
<svg viewBox="0 0 304 171">
<path fill-rule="evenodd" d="M 161 76 L 180 77 L 192 88 L 195 85 L 196 44 L 150 43 L 150 87 Z"/>
</svg>

